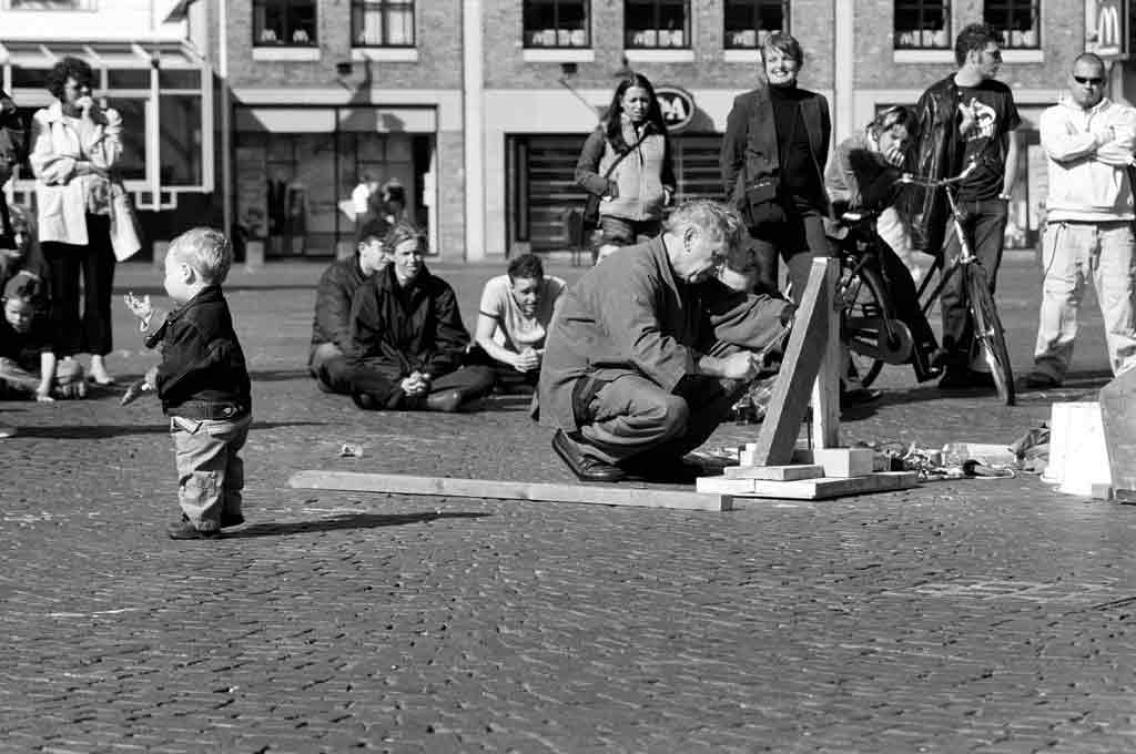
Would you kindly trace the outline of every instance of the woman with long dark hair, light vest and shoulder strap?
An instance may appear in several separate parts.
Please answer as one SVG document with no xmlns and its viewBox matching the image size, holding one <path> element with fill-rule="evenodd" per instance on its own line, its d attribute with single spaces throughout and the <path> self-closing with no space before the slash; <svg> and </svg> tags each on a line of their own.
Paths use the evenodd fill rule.
<svg viewBox="0 0 1136 754">
<path fill-rule="evenodd" d="M 576 183 L 600 196 L 603 243 L 624 246 L 659 235 L 675 196 L 670 137 L 646 76 L 619 82 L 603 123 L 584 142 Z"/>
</svg>

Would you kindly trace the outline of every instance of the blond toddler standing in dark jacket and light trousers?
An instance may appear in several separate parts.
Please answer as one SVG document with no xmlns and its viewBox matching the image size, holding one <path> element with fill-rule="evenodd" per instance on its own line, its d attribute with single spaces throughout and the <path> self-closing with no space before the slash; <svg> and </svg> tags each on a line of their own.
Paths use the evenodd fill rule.
<svg viewBox="0 0 1136 754">
<path fill-rule="evenodd" d="M 179 304 L 145 337 L 161 351 L 161 363 L 145 375 L 169 417 L 177 462 L 182 518 L 172 539 L 214 539 L 244 522 L 241 512 L 244 461 L 252 407 L 244 353 L 220 286 L 233 263 L 228 238 L 212 228 L 193 228 L 174 238 L 166 253 L 166 293 Z M 127 304 L 152 318 L 149 296 Z"/>
</svg>

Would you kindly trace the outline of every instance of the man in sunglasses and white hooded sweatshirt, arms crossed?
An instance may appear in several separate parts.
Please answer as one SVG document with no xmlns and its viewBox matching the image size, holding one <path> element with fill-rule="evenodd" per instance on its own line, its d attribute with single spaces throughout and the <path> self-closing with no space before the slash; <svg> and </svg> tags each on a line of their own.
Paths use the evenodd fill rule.
<svg viewBox="0 0 1136 754">
<path fill-rule="evenodd" d="M 1129 167 L 1136 146 L 1136 109 L 1104 97 L 1104 61 L 1077 57 L 1069 97 L 1042 114 L 1050 193 L 1042 241 L 1041 322 L 1034 370 L 1026 386 L 1064 382 L 1077 335 L 1085 278 L 1104 318 L 1114 375 L 1136 365 L 1136 240 Z"/>
</svg>

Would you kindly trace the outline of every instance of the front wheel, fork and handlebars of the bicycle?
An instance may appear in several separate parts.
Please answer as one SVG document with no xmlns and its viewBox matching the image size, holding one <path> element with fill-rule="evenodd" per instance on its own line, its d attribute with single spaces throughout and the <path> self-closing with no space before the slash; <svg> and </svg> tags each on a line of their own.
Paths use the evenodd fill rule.
<svg viewBox="0 0 1136 754">
<path fill-rule="evenodd" d="M 943 258 L 936 258 L 935 263 L 928 270 L 919 286 L 918 296 L 920 307 L 926 317 L 932 305 L 938 300 L 943 287 L 951 279 L 951 276 L 957 274 L 962 275 L 962 290 L 967 298 L 967 308 L 974 321 L 975 343 L 982 349 L 983 358 L 991 368 L 991 376 L 994 378 L 994 386 L 997 389 L 999 397 L 1005 405 L 1013 405 L 1017 395 L 1013 384 L 1013 370 L 1010 366 L 1010 352 L 1005 345 L 1005 330 L 1002 327 L 997 305 L 994 303 L 994 296 L 991 294 L 989 285 L 987 284 L 986 270 L 983 269 L 982 262 L 970 248 L 970 242 L 967 240 L 967 234 L 962 228 L 963 213 L 959 208 L 957 196 L 958 185 L 969 177 L 978 168 L 978 165 L 977 160 L 971 160 L 962 173 L 953 178 L 930 178 L 904 173 L 897 178 L 896 183 L 930 190 L 943 188 L 943 192 L 946 194 L 947 206 L 951 211 L 951 227 L 959 240 L 959 257 L 945 270 L 943 269 Z M 938 277 L 938 283 L 935 285 L 934 291 L 927 294 L 927 288 L 930 286 L 930 280 L 936 271 L 942 273 Z"/>
</svg>

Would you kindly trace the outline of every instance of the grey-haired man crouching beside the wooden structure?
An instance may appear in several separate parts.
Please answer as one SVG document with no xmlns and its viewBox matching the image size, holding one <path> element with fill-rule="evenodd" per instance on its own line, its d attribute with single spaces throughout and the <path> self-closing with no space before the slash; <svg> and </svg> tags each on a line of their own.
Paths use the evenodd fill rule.
<svg viewBox="0 0 1136 754">
<path fill-rule="evenodd" d="M 545 342 L 541 422 L 586 481 L 680 479 L 761 368 L 793 305 L 733 291 L 716 273 L 741 245 L 734 211 L 688 202 L 662 235 L 623 249 L 561 299 Z"/>
</svg>

